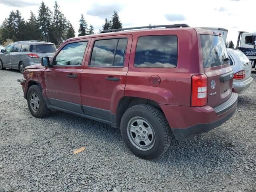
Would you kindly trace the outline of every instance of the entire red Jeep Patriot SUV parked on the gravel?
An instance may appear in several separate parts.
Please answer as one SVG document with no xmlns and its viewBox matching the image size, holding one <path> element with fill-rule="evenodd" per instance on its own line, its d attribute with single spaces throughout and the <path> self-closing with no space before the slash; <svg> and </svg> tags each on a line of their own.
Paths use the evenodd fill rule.
<svg viewBox="0 0 256 192">
<path fill-rule="evenodd" d="M 68 39 L 42 66 L 28 66 L 21 84 L 32 115 L 57 109 L 110 124 L 132 153 L 153 159 L 171 134 L 186 140 L 234 114 L 234 73 L 219 33 L 186 24 L 136 29 Z"/>
</svg>

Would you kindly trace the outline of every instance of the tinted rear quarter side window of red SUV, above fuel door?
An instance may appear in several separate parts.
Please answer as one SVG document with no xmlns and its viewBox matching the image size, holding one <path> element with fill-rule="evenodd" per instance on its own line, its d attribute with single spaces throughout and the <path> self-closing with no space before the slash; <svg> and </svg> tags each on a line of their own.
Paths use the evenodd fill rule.
<svg viewBox="0 0 256 192">
<path fill-rule="evenodd" d="M 174 68 L 177 66 L 177 36 L 142 36 L 138 39 L 134 66 Z"/>
</svg>

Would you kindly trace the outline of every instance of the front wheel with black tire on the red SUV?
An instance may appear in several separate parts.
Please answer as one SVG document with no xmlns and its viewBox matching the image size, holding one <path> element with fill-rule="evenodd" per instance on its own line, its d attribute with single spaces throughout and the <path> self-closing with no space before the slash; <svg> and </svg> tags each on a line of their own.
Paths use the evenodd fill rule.
<svg viewBox="0 0 256 192">
<path fill-rule="evenodd" d="M 40 85 L 32 85 L 28 89 L 28 108 L 34 117 L 41 118 L 50 114 L 50 109 L 47 108 L 42 95 Z"/>
</svg>

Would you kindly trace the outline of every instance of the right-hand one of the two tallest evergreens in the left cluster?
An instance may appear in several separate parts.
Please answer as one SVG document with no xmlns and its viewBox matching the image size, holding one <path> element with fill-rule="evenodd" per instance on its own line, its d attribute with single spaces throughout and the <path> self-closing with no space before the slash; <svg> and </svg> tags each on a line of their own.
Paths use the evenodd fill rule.
<svg viewBox="0 0 256 192">
<path fill-rule="evenodd" d="M 54 4 L 54 16 L 53 16 L 53 25 L 52 32 L 54 33 L 52 36 L 53 42 L 55 44 L 62 44 L 66 37 L 66 31 L 68 30 L 68 22 L 64 14 L 60 11 L 60 6 L 58 6 L 55 1 Z"/>
</svg>

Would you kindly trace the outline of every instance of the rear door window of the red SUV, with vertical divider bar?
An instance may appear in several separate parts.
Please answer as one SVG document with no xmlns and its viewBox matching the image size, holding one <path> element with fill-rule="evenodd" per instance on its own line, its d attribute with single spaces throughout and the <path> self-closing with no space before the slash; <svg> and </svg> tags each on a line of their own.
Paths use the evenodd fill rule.
<svg viewBox="0 0 256 192">
<path fill-rule="evenodd" d="M 90 66 L 124 66 L 127 41 L 127 38 L 95 41 Z"/>
</svg>

